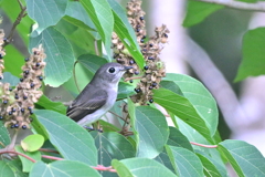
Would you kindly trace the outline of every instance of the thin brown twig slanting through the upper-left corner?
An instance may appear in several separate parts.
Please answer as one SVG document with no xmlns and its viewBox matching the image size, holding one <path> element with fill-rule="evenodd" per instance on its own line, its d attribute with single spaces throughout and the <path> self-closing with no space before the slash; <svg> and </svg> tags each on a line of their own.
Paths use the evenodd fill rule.
<svg viewBox="0 0 265 177">
<path fill-rule="evenodd" d="M 20 4 L 21 12 L 19 13 L 17 20 L 14 21 L 13 27 L 12 27 L 12 29 L 11 29 L 7 40 L 4 40 L 4 43 L 2 44 L 2 48 L 8 45 L 12 41 L 12 38 L 13 38 L 13 34 L 14 34 L 17 25 L 19 25 L 19 23 L 21 22 L 22 18 L 24 18 L 26 15 L 26 13 L 25 13 L 26 8 L 23 7 L 23 4 L 22 4 L 22 2 L 20 0 L 18 0 L 18 1 L 19 1 L 19 4 Z"/>
</svg>

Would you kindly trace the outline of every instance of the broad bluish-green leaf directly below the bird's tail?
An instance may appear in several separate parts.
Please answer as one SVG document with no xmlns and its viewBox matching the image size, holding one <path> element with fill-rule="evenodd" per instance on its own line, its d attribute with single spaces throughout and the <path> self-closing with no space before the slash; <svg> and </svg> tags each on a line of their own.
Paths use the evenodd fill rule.
<svg viewBox="0 0 265 177">
<path fill-rule="evenodd" d="M 53 111 L 38 110 L 35 115 L 45 127 L 51 143 L 65 159 L 97 165 L 94 139 L 86 129 L 65 115 Z"/>
</svg>

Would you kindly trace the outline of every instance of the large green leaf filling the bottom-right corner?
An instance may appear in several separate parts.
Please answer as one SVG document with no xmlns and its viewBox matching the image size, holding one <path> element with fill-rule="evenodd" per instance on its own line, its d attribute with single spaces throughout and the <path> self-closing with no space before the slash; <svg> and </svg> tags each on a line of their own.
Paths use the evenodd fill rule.
<svg viewBox="0 0 265 177">
<path fill-rule="evenodd" d="M 224 140 L 219 149 L 226 156 L 239 176 L 265 176 L 265 158 L 258 149 L 242 140 Z"/>
</svg>

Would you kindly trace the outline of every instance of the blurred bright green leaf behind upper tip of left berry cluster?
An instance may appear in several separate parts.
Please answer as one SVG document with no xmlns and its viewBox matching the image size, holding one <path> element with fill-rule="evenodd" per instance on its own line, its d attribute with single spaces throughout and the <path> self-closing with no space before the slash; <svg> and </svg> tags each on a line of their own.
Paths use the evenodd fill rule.
<svg viewBox="0 0 265 177">
<path fill-rule="evenodd" d="M 12 75 L 21 77 L 21 66 L 24 64 L 24 56 L 12 45 L 4 46 L 6 55 L 4 60 L 4 72 L 10 72 Z"/>
</svg>

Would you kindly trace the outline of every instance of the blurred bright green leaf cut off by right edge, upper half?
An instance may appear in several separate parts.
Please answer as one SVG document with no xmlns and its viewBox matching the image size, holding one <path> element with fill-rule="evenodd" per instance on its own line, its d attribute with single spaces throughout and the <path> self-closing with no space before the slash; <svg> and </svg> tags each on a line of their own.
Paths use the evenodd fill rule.
<svg viewBox="0 0 265 177">
<path fill-rule="evenodd" d="M 240 64 L 235 81 L 242 81 L 247 76 L 265 74 L 265 28 L 247 31 L 243 37 L 243 60 Z"/>
</svg>

